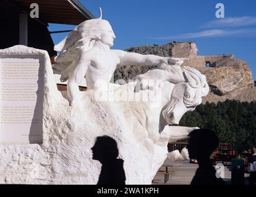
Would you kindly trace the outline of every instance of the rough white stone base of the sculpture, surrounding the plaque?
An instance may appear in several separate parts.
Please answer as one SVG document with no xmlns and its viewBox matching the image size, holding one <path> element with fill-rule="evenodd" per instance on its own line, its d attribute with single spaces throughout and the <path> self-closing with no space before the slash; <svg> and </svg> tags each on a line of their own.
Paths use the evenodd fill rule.
<svg viewBox="0 0 256 197">
<path fill-rule="evenodd" d="M 96 137 L 108 135 L 116 140 L 119 158 L 124 160 L 126 184 L 151 184 L 167 158 L 168 134 L 157 131 L 155 142 L 147 132 L 138 136 L 138 128 L 130 129 L 133 125 L 127 121 L 134 117 L 122 103 L 95 102 L 89 90 L 80 92 L 80 108 L 70 107 L 66 92 L 57 89 L 45 50 L 14 46 L 0 54 L 45 55 L 43 143 L 1 144 L 0 183 L 95 184 L 101 163 L 92 159 L 91 148 Z"/>
</svg>

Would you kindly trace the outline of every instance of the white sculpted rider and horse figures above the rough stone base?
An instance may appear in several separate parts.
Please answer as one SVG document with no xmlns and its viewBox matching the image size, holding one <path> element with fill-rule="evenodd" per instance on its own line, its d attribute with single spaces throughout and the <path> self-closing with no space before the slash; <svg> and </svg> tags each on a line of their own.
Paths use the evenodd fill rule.
<svg viewBox="0 0 256 197">
<path fill-rule="evenodd" d="M 100 17 L 81 23 L 54 47 L 55 50 L 61 51 L 60 55 L 56 57 L 57 63 L 54 64 L 54 68 L 62 74 L 61 81 L 68 80 L 67 95 L 70 105 L 80 105 L 81 94 L 78 86 L 83 78 L 87 81 L 89 92 L 98 89 L 107 91 L 106 87 L 108 86 L 102 86 L 102 82 L 108 84 L 118 66 L 158 65 L 162 70 L 150 70 L 137 76 L 137 79 L 142 82 L 142 90 L 148 87 L 148 80 L 160 79 L 161 82 L 153 83 L 155 87 L 148 87 L 153 92 L 139 92 L 139 94 L 147 94 L 150 98 L 154 97 L 157 100 L 157 107 L 150 107 L 151 103 L 148 101 L 142 101 L 135 105 L 130 101 L 125 102 L 125 108 L 130 107 L 136 111 L 127 119 L 132 119 L 129 124 L 132 126 L 130 129 L 134 130 L 138 140 L 140 137 L 142 139 L 149 137 L 154 143 L 164 129 L 167 130 L 166 132 L 170 132 L 170 139 L 173 142 L 185 139 L 187 131 L 190 129 L 180 127 L 179 131 L 175 132 L 169 126 L 179 124 L 184 113 L 193 111 L 202 102 L 202 97 L 208 94 L 209 89 L 205 76 L 194 68 L 181 67 L 182 59 L 178 60 L 177 65 L 168 65 L 169 59 L 174 62 L 177 59 L 141 55 L 124 50 L 111 50 L 114 38 L 116 36 L 109 22 Z M 98 81 L 101 81 L 101 86 L 97 85 Z M 127 95 L 129 94 L 127 91 L 132 92 L 133 90 L 129 87 L 133 86 L 134 88 L 135 83 L 126 86 L 128 87 L 126 90 L 124 87 L 119 87 L 114 91 L 121 95 Z M 161 97 L 155 96 L 155 92 L 161 92 Z M 121 98 L 116 101 L 121 102 L 122 100 L 126 99 Z M 140 110 L 139 105 L 146 106 L 146 109 L 142 107 L 143 110 Z M 141 117 L 144 119 L 141 120 Z M 143 129 L 139 129 L 139 125 L 142 125 Z"/>
</svg>

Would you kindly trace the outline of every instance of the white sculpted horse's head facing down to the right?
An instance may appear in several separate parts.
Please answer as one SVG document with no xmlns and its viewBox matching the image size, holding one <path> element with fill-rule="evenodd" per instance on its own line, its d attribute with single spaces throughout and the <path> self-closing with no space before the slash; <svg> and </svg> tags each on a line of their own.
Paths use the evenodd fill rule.
<svg viewBox="0 0 256 197">
<path fill-rule="evenodd" d="M 186 82 L 181 82 L 174 86 L 171 100 L 163 108 L 163 118 L 169 125 L 177 125 L 182 116 L 187 111 L 193 111 L 197 105 L 200 104 L 200 100 L 195 100 L 195 105 L 188 107 L 185 100 L 194 100 L 197 89 L 189 86 Z M 200 97 L 201 99 L 201 97 Z"/>
</svg>

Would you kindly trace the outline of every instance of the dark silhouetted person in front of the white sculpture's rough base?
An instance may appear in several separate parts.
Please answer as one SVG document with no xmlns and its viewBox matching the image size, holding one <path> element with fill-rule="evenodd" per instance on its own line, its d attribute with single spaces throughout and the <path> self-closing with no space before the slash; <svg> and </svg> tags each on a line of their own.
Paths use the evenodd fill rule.
<svg viewBox="0 0 256 197">
<path fill-rule="evenodd" d="M 117 158 L 116 140 L 104 135 L 96 138 L 92 147 L 93 159 L 102 164 L 97 185 L 125 185 L 124 160 Z"/>
</svg>

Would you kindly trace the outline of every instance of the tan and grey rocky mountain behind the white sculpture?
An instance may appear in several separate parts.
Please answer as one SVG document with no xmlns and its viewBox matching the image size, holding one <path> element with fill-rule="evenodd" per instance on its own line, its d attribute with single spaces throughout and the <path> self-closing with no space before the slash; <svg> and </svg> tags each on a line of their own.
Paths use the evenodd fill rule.
<svg viewBox="0 0 256 197">
<path fill-rule="evenodd" d="M 211 94 L 204 97 L 203 102 L 218 102 L 218 100 L 226 100 L 226 98 L 241 101 L 256 100 L 256 95 L 252 94 L 256 91 L 252 71 L 244 60 L 239 60 L 234 55 L 197 56 L 197 46 L 194 42 L 171 42 L 162 46 L 132 47 L 127 51 L 187 58 L 181 66 L 196 68 L 207 77 Z M 153 66 L 122 66 L 116 70 L 114 79 L 128 81 L 137 74 L 145 73 L 153 68 Z M 242 94 L 242 97 L 235 96 L 239 95 L 239 92 L 245 93 L 246 90 L 248 94 Z M 245 97 L 245 95 L 247 96 Z"/>
</svg>

